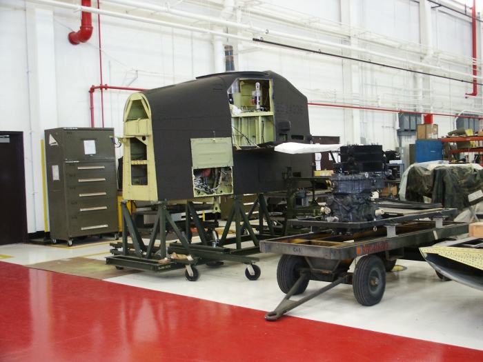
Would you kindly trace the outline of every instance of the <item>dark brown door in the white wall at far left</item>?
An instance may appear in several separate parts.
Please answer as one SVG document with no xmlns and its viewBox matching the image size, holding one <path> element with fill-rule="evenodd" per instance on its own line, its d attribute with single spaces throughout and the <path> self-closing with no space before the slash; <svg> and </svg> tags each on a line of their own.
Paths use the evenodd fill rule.
<svg viewBox="0 0 483 362">
<path fill-rule="evenodd" d="M 0 245 L 26 243 L 22 132 L 0 132 L 0 200 Z"/>
</svg>

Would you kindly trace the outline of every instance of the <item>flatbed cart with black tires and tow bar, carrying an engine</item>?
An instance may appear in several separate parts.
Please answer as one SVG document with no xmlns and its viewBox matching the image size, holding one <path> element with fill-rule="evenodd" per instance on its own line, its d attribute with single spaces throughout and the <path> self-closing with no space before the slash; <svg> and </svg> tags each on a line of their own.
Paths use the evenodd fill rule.
<svg viewBox="0 0 483 362">
<path fill-rule="evenodd" d="M 420 246 L 433 245 L 468 232 L 468 223 L 444 221 L 455 213 L 457 209 L 433 208 L 360 223 L 330 223 L 319 218 L 288 221 L 294 225 L 311 226 L 313 232 L 260 241 L 262 252 L 283 254 L 277 267 L 277 282 L 286 293 L 265 319 L 276 321 L 284 313 L 339 284 L 352 284 L 355 299 L 362 305 L 379 303 L 386 286 L 386 272 L 393 269 L 397 259 L 421 260 L 417 250 Z M 384 228 L 379 228 L 382 226 Z M 351 232 L 334 235 L 331 229 Z M 416 252 L 411 254 L 411 249 Z M 348 272 L 357 257 L 362 258 L 357 261 L 354 272 Z M 330 284 L 299 301 L 291 301 L 291 296 L 306 290 L 310 280 Z"/>
</svg>

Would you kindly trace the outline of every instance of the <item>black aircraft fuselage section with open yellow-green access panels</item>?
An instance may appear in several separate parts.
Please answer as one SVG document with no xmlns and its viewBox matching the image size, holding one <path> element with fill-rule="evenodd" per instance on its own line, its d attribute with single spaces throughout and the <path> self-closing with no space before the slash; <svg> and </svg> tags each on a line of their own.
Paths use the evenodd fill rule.
<svg viewBox="0 0 483 362">
<path fill-rule="evenodd" d="M 228 72 L 137 92 L 124 110 L 123 197 L 177 201 L 284 190 L 311 177 L 307 99 L 274 72 Z"/>
</svg>

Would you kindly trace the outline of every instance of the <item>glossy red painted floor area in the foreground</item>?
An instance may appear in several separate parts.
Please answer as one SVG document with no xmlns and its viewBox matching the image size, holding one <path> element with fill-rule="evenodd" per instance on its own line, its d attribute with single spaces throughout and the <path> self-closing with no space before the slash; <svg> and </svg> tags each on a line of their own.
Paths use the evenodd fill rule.
<svg viewBox="0 0 483 362">
<path fill-rule="evenodd" d="M 0 263 L 0 285 L 1 362 L 483 361 L 479 350 L 267 322 L 258 310 L 10 263 Z"/>
</svg>

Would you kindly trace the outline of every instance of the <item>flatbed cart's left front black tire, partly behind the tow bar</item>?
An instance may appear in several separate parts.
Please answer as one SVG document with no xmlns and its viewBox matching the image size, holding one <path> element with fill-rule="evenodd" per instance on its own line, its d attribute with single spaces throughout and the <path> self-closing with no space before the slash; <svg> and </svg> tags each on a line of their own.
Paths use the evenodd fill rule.
<svg viewBox="0 0 483 362">
<path fill-rule="evenodd" d="M 297 257 L 297 255 L 284 254 L 280 258 L 277 266 L 277 282 L 280 290 L 285 294 L 292 289 L 293 285 L 299 280 L 300 268 L 308 268 L 304 257 Z M 308 285 L 308 279 L 302 283 L 293 295 L 305 292 Z"/>
</svg>

